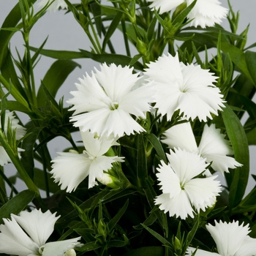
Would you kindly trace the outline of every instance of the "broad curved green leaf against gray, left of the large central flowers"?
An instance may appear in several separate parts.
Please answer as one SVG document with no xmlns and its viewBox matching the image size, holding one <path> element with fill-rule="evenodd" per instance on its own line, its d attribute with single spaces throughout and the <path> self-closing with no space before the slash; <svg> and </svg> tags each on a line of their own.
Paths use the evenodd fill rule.
<svg viewBox="0 0 256 256">
<path fill-rule="evenodd" d="M 53 97 L 56 96 L 56 93 L 64 83 L 64 80 L 66 80 L 69 73 L 71 73 L 75 67 L 80 67 L 80 64 L 69 59 L 57 60 L 50 66 L 50 69 L 48 69 L 48 72 L 46 73 L 45 78 L 42 80 L 42 83 Z M 45 107 L 46 100 L 47 95 L 45 94 L 42 86 L 40 86 L 37 93 L 38 106 Z"/>
</svg>

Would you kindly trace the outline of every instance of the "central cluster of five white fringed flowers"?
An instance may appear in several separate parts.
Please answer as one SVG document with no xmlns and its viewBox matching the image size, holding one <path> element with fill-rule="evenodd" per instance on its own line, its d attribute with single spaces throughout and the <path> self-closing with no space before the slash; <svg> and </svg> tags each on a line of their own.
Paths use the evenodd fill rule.
<svg viewBox="0 0 256 256">
<path fill-rule="evenodd" d="M 93 187 L 97 179 L 102 180 L 108 173 L 113 162 L 124 161 L 123 157 L 109 157 L 105 153 L 116 145 L 113 138 L 144 132 L 139 123 L 146 118 L 146 112 L 161 113 L 170 121 L 179 110 L 179 115 L 188 121 L 195 118 L 206 121 L 211 113 L 218 115 L 218 110 L 224 108 L 222 94 L 213 84 L 217 77 L 200 66 L 179 62 L 178 54 L 164 55 L 148 64 L 145 78 L 133 74 L 132 68 L 115 64 L 102 64 L 101 70 L 95 71 L 91 77 L 86 74 L 79 79 L 78 91 L 71 91 L 73 98 L 68 100 L 73 105 L 70 110 L 75 110 L 71 121 L 80 127 L 86 150 L 83 154 L 59 153 L 61 157 L 53 159 L 53 178 L 61 184 L 61 189 L 67 187 L 67 192 L 75 190 L 87 176 L 89 188 Z M 189 127 L 188 122 L 165 132 L 162 142 L 174 151 L 167 154 L 167 164 L 162 161 L 157 167 L 163 194 L 155 203 L 170 216 L 181 219 L 187 215 L 193 217 L 195 211 L 206 211 L 221 192 L 219 181 L 211 176 L 207 163 L 213 161 L 212 168 L 222 174 L 228 167 L 241 166 L 226 156 L 233 154 L 232 148 L 214 125 L 205 126 L 198 147 Z M 179 204 L 181 200 L 183 207 Z"/>
</svg>

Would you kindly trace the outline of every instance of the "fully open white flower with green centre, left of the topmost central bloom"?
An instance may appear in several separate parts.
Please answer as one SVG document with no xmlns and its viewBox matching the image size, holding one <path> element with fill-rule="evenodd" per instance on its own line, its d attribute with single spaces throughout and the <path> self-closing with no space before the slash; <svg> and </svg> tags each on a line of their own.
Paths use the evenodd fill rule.
<svg viewBox="0 0 256 256">
<path fill-rule="evenodd" d="M 150 110 L 151 87 L 137 87 L 138 74 L 132 74 L 132 68 L 102 64 L 101 70 L 95 69 L 91 77 L 86 73 L 80 84 L 75 83 L 78 91 L 71 91 L 74 98 L 67 102 L 75 110 L 71 121 L 82 131 L 91 129 L 98 135 L 111 133 L 120 138 L 125 134 L 143 132 L 143 127 L 132 118 L 146 118 Z"/>
</svg>

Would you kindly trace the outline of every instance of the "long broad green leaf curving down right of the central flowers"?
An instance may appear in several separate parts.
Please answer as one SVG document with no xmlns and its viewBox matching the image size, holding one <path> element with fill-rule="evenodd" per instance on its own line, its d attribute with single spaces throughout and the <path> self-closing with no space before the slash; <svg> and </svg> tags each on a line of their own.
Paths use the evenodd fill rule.
<svg viewBox="0 0 256 256">
<path fill-rule="evenodd" d="M 244 132 L 244 127 L 236 114 L 228 105 L 223 109 L 222 118 L 227 129 L 227 135 L 233 146 L 236 161 L 243 166 L 230 170 L 227 174 L 231 180 L 229 203 L 230 209 L 240 203 L 249 178 L 249 147 Z"/>
</svg>

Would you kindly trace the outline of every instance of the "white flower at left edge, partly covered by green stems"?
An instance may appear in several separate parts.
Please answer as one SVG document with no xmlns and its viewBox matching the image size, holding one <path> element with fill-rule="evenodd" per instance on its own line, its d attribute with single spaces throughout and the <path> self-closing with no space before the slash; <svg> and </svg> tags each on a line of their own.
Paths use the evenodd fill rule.
<svg viewBox="0 0 256 256">
<path fill-rule="evenodd" d="M 20 140 L 23 138 L 23 136 L 26 134 L 26 129 L 22 127 L 19 123 L 19 120 L 15 118 L 13 111 L 12 112 L 6 112 L 4 117 L 4 133 L 7 135 L 7 129 L 8 129 L 8 121 L 11 124 L 12 131 L 15 130 L 15 136 L 16 140 Z M 1 128 L 1 122 L 0 122 L 0 128 Z M 18 148 L 18 153 L 21 151 L 24 151 L 22 148 Z M 7 152 L 5 151 L 4 147 L 0 144 L 0 165 L 7 165 L 8 162 L 12 162 L 10 157 L 8 156 Z"/>
</svg>

